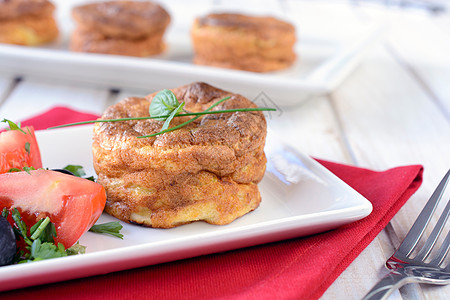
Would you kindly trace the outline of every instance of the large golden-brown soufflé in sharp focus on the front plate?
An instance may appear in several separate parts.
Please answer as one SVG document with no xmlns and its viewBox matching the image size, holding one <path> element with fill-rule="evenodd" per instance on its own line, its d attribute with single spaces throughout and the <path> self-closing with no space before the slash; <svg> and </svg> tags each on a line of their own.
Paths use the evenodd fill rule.
<svg viewBox="0 0 450 300">
<path fill-rule="evenodd" d="M 214 110 L 256 107 L 206 83 L 172 91 L 191 112 L 227 96 L 231 98 Z M 109 107 L 102 119 L 148 116 L 155 94 L 126 98 Z M 171 127 L 189 118 L 174 118 Z M 175 131 L 137 138 L 159 132 L 163 123 L 152 119 L 94 126 L 94 168 L 107 192 L 107 213 L 129 223 L 171 228 L 200 220 L 228 224 L 259 206 L 267 131 L 260 111 L 205 115 Z"/>
</svg>

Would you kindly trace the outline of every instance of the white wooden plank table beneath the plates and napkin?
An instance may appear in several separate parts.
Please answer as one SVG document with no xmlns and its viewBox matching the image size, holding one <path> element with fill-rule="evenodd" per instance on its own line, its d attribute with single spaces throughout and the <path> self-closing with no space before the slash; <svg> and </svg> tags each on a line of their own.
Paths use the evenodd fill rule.
<svg viewBox="0 0 450 300">
<path fill-rule="evenodd" d="M 387 273 L 386 259 L 450 168 L 450 12 L 432 14 L 385 7 L 372 1 L 369 5 L 355 5 L 359 2 L 354 1 L 223 2 L 226 3 L 199 1 L 199 5 L 236 9 L 245 6 L 290 18 L 332 11 L 336 16 L 357 18 L 361 23 L 376 20 L 389 25 L 385 38 L 374 44 L 337 89 L 311 97 L 296 107 L 282 108 L 279 116 L 269 120 L 271 129 L 314 157 L 375 170 L 407 164 L 424 166 L 421 188 L 322 297 L 360 299 Z M 174 7 L 183 2 L 165 4 Z M 2 71 L 0 116 L 16 121 L 55 105 L 101 114 L 121 98 L 142 93 L 134 90 L 113 93 L 104 86 L 45 76 L 28 78 L 20 73 L 6 76 Z M 17 81 L 16 77 L 22 80 Z M 416 284 L 407 285 L 390 297 L 449 298 L 450 286 Z"/>
</svg>

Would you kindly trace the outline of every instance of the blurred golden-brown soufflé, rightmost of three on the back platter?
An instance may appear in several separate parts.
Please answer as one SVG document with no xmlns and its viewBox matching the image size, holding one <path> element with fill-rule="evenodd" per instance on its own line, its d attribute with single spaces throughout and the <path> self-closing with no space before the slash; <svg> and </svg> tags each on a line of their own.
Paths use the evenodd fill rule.
<svg viewBox="0 0 450 300">
<path fill-rule="evenodd" d="M 296 59 L 295 27 L 273 17 L 209 14 L 195 19 L 191 38 L 200 65 L 269 72 Z"/>
</svg>

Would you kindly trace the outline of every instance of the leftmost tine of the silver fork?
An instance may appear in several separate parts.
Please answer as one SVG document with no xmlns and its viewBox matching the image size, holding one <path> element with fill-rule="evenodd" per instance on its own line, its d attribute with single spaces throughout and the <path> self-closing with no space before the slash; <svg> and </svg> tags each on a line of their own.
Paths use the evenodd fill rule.
<svg viewBox="0 0 450 300">
<path fill-rule="evenodd" d="M 413 226 L 409 230 L 403 242 L 400 244 L 398 248 L 399 253 L 403 253 L 406 257 L 408 257 L 417 245 L 420 237 L 422 236 L 425 228 L 430 222 L 431 216 L 433 215 L 434 210 L 436 209 L 437 203 L 442 198 L 442 194 L 445 190 L 445 187 L 448 183 L 448 179 L 450 177 L 450 170 L 447 171 L 444 178 L 442 178 L 436 190 L 431 195 L 430 200 L 428 200 L 427 204 L 420 212 L 417 220 L 414 222 Z"/>
</svg>

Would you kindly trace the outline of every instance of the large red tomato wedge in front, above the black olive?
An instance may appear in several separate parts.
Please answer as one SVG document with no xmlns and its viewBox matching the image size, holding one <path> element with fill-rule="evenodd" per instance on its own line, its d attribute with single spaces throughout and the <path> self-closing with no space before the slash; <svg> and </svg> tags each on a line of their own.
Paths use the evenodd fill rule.
<svg viewBox="0 0 450 300">
<path fill-rule="evenodd" d="M 75 244 L 100 217 L 106 203 L 103 186 L 50 170 L 0 174 L 0 207 L 17 208 L 31 227 L 50 217 L 55 242 Z"/>
</svg>

